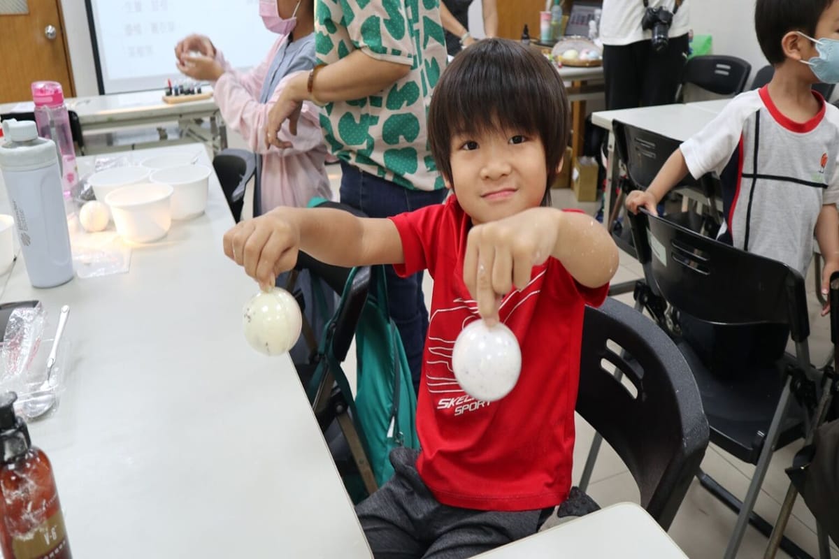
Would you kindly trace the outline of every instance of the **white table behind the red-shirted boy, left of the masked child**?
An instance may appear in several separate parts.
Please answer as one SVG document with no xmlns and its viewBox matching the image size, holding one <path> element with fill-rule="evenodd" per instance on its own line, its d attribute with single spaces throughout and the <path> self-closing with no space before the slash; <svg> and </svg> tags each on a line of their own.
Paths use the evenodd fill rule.
<svg viewBox="0 0 839 559">
<path fill-rule="evenodd" d="M 612 192 L 614 184 L 619 178 L 619 165 L 615 154 L 615 137 L 612 133 L 612 122 L 619 121 L 634 127 L 644 128 L 649 132 L 655 132 L 666 136 L 685 141 L 699 132 L 708 122 L 711 122 L 722 108 L 728 103 L 728 99 L 717 99 L 713 101 L 697 101 L 695 103 L 676 103 L 674 105 L 643 106 L 633 109 L 617 109 L 614 111 L 597 111 L 591 113 L 591 122 L 609 132 L 608 156 L 606 166 L 606 194 L 603 205 L 603 220 L 608 229 L 612 215 Z"/>
</svg>

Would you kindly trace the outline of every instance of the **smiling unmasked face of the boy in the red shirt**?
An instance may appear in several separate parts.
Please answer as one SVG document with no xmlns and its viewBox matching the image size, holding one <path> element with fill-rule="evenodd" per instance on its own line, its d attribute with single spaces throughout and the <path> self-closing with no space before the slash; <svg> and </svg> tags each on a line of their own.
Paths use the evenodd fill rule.
<svg viewBox="0 0 839 559">
<path fill-rule="evenodd" d="M 513 129 L 451 138 L 451 182 L 473 225 L 538 207 L 548 180 L 538 134 Z"/>
</svg>

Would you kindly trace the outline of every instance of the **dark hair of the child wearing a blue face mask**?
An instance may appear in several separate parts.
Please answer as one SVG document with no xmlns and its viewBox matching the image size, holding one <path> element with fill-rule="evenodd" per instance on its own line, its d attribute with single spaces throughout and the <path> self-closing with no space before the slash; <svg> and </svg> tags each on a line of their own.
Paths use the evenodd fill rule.
<svg viewBox="0 0 839 559">
<path fill-rule="evenodd" d="M 784 62 L 781 39 L 790 31 L 816 36 L 816 23 L 833 0 L 758 0 L 754 5 L 754 30 L 769 64 Z"/>
</svg>

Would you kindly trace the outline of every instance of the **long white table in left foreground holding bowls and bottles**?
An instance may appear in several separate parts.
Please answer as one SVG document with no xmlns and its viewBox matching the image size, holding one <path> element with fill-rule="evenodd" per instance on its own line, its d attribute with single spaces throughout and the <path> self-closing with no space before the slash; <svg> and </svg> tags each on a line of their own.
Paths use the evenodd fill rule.
<svg viewBox="0 0 839 559">
<path fill-rule="evenodd" d="M 126 274 L 34 289 L 11 272 L 3 302 L 71 308 L 66 390 L 30 432 L 74 556 L 370 557 L 291 361 L 242 335 L 257 286 L 222 254 L 232 225 L 213 174 L 206 215 L 136 247 Z"/>
</svg>

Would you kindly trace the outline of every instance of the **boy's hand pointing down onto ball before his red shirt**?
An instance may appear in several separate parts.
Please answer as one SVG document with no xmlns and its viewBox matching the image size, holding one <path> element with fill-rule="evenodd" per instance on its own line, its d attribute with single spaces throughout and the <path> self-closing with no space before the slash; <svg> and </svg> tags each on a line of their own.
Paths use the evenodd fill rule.
<svg viewBox="0 0 839 559">
<path fill-rule="evenodd" d="M 527 285 L 533 267 L 552 254 L 562 219 L 558 210 L 533 208 L 469 231 L 463 281 L 487 322 L 498 321 L 503 295 Z"/>
</svg>

